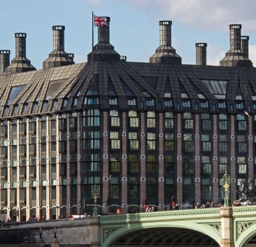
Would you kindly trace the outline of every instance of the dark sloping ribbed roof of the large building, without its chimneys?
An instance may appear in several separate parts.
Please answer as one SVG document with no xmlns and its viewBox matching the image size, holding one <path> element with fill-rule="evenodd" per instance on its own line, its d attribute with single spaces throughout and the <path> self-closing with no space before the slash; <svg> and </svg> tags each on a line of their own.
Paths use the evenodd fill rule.
<svg viewBox="0 0 256 247">
<path fill-rule="evenodd" d="M 255 76 L 256 69 L 253 67 L 186 64 L 172 66 L 125 61 L 94 62 L 93 84 L 92 62 L 15 73 L 0 76 L 1 117 L 62 112 L 86 107 L 220 112 L 223 109 L 218 109 L 218 101 L 226 101 L 225 112 L 255 112 Z M 218 98 L 202 80 L 227 81 L 225 96 Z M 84 105 L 88 90 L 96 92 L 92 97 L 99 98 L 99 105 Z M 87 96 L 90 98 L 91 94 Z M 109 105 L 109 98 L 115 97 L 118 105 Z M 128 105 L 129 98 L 136 99 L 135 106 Z M 163 101 L 166 98 L 172 100 L 172 107 L 164 106 Z M 76 104 L 74 99 L 77 100 Z M 146 101 L 152 99 L 154 106 L 147 106 Z M 182 107 L 184 100 L 191 101 L 190 108 Z M 209 101 L 209 108 L 200 107 L 202 100 Z M 244 108 L 236 109 L 236 103 L 242 101 Z"/>
</svg>

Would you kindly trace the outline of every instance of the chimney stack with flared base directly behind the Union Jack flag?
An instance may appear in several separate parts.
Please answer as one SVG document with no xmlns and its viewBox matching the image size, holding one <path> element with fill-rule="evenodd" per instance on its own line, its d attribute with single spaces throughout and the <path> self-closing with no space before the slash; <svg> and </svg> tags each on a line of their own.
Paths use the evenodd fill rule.
<svg viewBox="0 0 256 247">
<path fill-rule="evenodd" d="M 87 55 L 88 61 L 120 61 L 120 55 L 115 47 L 109 43 L 110 17 L 99 17 L 106 20 L 106 24 L 98 26 L 98 43 L 93 47 L 93 52 Z M 93 57 L 92 57 L 93 55 Z M 92 59 L 93 58 L 93 59 Z"/>
</svg>

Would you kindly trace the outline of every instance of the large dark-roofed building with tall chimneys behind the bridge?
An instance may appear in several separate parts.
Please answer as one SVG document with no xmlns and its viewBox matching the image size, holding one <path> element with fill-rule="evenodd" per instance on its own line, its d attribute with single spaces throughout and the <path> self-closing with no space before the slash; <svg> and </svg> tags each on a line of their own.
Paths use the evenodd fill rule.
<svg viewBox="0 0 256 247">
<path fill-rule="evenodd" d="M 207 43 L 196 43 L 190 65 L 172 47 L 171 27 L 159 22 L 156 53 L 138 63 L 99 26 L 88 62 L 74 64 L 65 27 L 53 26 L 41 70 L 26 58 L 26 33 L 15 33 L 11 63 L 10 50 L 0 50 L 1 213 L 52 219 L 91 213 L 94 203 L 101 213 L 132 213 L 145 200 L 164 210 L 172 196 L 179 205 L 222 200 L 226 171 L 231 200 L 241 181 L 255 179 L 248 36 L 230 25 L 220 66 L 207 66 Z"/>
</svg>

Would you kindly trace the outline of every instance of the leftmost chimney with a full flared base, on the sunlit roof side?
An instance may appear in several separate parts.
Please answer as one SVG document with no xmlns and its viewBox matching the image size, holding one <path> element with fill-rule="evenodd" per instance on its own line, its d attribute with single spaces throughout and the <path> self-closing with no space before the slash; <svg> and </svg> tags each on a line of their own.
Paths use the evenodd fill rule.
<svg viewBox="0 0 256 247">
<path fill-rule="evenodd" d="M 15 33 L 15 58 L 6 68 L 7 74 L 36 70 L 26 57 L 26 33 Z"/>
</svg>

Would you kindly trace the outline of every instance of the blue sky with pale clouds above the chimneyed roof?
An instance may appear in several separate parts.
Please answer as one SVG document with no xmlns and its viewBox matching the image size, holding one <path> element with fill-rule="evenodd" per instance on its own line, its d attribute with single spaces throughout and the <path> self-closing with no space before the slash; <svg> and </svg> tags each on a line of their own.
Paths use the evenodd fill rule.
<svg viewBox="0 0 256 247">
<path fill-rule="evenodd" d="M 110 20 L 110 43 L 127 61 L 148 62 L 159 47 L 159 20 L 172 20 L 172 47 L 182 64 L 195 64 L 195 43 L 207 43 L 207 64 L 218 65 L 229 50 L 229 24 L 250 36 L 256 64 L 255 0 L 2 0 L 0 50 L 15 57 L 14 33 L 27 33 L 26 57 L 42 68 L 52 48 L 52 26 L 65 26 L 65 51 L 87 61 L 92 51 L 92 11 Z M 93 29 L 97 43 L 97 27 Z"/>
</svg>

